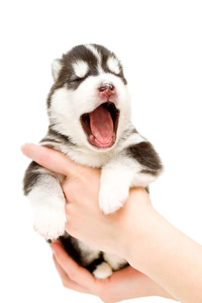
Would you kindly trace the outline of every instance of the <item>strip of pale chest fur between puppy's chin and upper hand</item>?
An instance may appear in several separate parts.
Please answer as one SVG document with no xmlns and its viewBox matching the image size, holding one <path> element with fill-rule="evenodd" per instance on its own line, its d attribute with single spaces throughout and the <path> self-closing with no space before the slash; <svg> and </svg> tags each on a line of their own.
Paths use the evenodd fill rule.
<svg viewBox="0 0 202 303">
<path fill-rule="evenodd" d="M 117 150 L 111 150 L 108 153 L 93 153 L 85 148 L 70 148 L 65 145 L 60 146 L 60 149 L 75 162 L 97 168 L 105 166 L 117 154 Z"/>
</svg>

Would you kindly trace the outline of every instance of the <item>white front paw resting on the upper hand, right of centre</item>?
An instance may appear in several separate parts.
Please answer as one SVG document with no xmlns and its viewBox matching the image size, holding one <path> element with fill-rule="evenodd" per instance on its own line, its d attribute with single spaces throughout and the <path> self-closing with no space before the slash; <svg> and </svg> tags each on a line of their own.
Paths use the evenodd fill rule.
<svg viewBox="0 0 202 303">
<path fill-rule="evenodd" d="M 129 193 L 129 187 L 121 184 L 102 184 L 99 190 L 99 208 L 106 215 L 112 214 L 120 209 Z"/>
</svg>

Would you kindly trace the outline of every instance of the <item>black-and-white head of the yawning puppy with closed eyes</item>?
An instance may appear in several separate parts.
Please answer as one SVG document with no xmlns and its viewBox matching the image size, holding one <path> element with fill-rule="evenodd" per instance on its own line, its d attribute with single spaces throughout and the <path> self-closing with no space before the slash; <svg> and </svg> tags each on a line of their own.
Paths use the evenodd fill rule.
<svg viewBox="0 0 202 303">
<path fill-rule="evenodd" d="M 53 62 L 52 74 L 47 105 L 54 128 L 90 149 L 113 148 L 130 121 L 127 82 L 115 54 L 78 45 Z"/>
</svg>

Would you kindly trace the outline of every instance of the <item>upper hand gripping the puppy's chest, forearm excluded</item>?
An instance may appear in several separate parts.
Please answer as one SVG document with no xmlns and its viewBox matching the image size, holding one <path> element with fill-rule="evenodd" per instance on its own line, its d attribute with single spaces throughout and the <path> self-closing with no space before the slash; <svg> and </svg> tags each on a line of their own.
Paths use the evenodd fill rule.
<svg viewBox="0 0 202 303">
<path fill-rule="evenodd" d="M 45 168 L 68 176 L 63 184 L 68 201 L 68 233 L 93 248 L 127 260 L 131 241 L 139 237 L 146 225 L 148 210 L 152 209 L 146 191 L 131 190 L 124 208 L 106 216 L 98 207 L 100 170 L 81 166 L 55 150 L 35 144 L 25 144 L 22 151 Z"/>
</svg>

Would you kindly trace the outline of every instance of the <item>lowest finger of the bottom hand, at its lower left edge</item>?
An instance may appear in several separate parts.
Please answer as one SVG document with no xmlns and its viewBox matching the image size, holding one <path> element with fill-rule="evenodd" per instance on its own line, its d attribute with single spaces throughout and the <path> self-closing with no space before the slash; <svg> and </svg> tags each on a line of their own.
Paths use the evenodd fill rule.
<svg viewBox="0 0 202 303">
<path fill-rule="evenodd" d="M 90 294 L 92 294 L 92 292 L 89 289 L 87 289 L 87 288 L 79 285 L 78 283 L 72 281 L 68 277 L 68 275 L 66 274 L 66 272 L 62 269 L 62 267 L 60 266 L 60 264 L 57 262 L 55 256 L 53 257 L 53 259 L 54 259 L 54 263 L 55 263 L 56 269 L 57 269 L 57 271 L 59 273 L 59 276 L 61 277 L 61 280 L 63 282 L 63 285 L 66 288 L 70 288 L 72 290 L 76 290 L 76 291 L 83 292 L 83 293 L 90 293 Z"/>
</svg>

